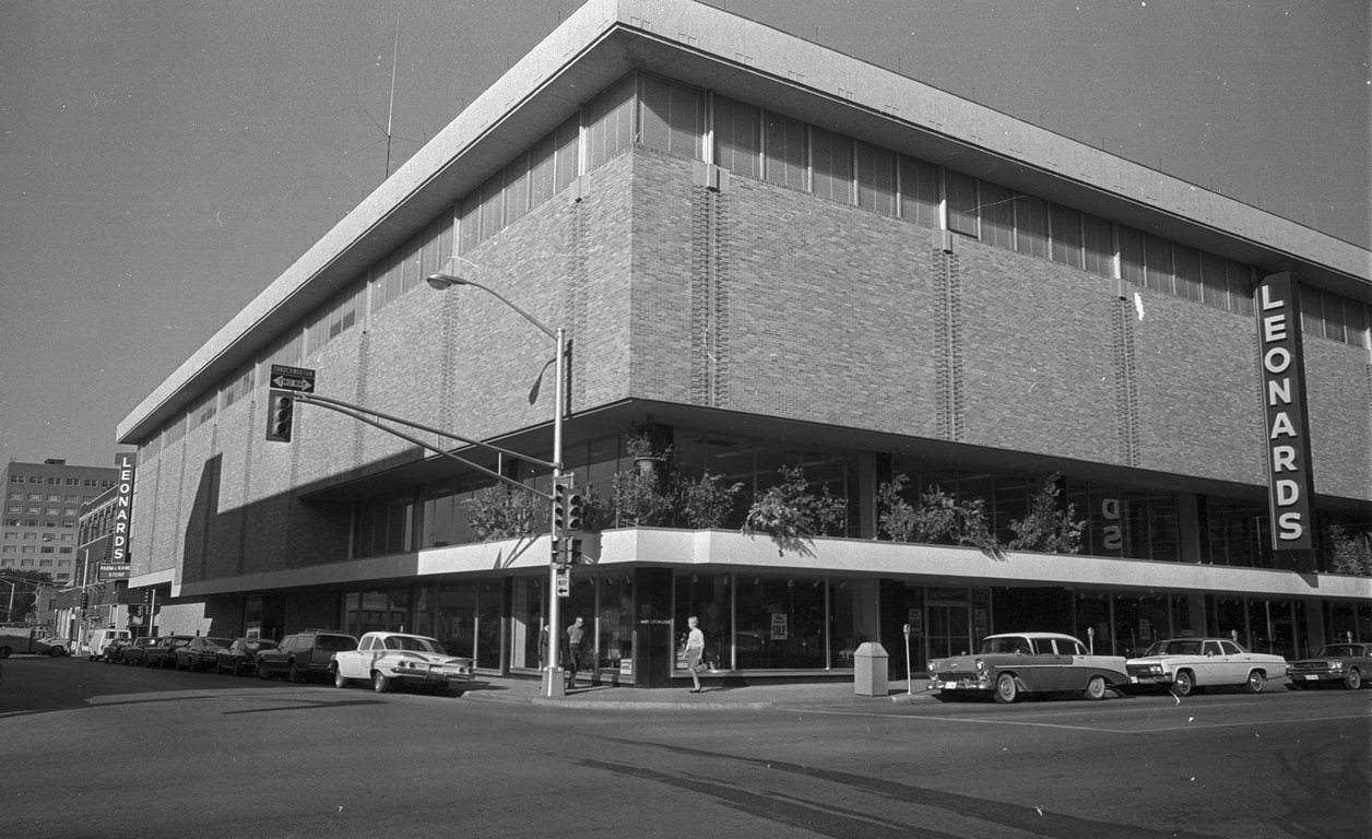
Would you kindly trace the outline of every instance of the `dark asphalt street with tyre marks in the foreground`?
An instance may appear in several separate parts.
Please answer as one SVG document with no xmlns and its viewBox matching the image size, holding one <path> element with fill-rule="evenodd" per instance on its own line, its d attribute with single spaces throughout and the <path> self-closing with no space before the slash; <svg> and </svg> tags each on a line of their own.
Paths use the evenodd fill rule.
<svg viewBox="0 0 1372 839">
<path fill-rule="evenodd" d="M 892 685 L 893 689 L 897 685 Z M 460 698 L 3 662 L 0 835 L 1365 836 L 1372 691 Z M 694 703 L 694 704 L 693 704 Z"/>
</svg>

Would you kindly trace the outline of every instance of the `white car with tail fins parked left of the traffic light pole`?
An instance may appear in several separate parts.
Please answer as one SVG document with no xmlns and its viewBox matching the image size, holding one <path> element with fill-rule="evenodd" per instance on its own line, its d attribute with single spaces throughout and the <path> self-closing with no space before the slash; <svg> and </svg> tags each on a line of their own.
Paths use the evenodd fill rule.
<svg viewBox="0 0 1372 839">
<path fill-rule="evenodd" d="M 392 687 L 456 691 L 472 678 L 472 659 L 449 655 L 438 639 L 402 632 L 369 632 L 357 650 L 333 655 L 333 687 L 366 680 L 384 693 Z"/>
</svg>

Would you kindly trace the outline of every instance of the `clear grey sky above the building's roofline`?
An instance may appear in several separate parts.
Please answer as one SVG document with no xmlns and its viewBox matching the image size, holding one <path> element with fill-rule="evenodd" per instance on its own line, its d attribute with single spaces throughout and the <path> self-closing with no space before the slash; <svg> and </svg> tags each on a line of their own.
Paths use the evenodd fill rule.
<svg viewBox="0 0 1372 839">
<path fill-rule="evenodd" d="M 114 428 L 579 4 L 0 0 L 0 457 Z M 1368 0 L 713 5 L 1368 246 Z"/>
</svg>

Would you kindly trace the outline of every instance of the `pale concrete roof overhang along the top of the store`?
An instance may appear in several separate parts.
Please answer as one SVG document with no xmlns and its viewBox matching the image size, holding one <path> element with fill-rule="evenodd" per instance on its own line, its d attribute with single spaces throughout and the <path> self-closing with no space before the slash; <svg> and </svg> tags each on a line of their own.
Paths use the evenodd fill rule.
<svg viewBox="0 0 1372 839">
<path fill-rule="evenodd" d="M 726 11 L 591 0 L 118 426 L 139 444 L 611 82 L 646 70 L 1372 303 L 1372 253 Z"/>
</svg>

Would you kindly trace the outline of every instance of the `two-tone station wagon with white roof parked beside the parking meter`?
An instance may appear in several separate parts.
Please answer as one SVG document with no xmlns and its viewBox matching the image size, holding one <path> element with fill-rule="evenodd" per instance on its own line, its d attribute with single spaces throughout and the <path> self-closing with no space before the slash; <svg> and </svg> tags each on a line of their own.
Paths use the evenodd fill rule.
<svg viewBox="0 0 1372 839">
<path fill-rule="evenodd" d="M 1080 640 L 1055 632 L 986 636 L 975 655 L 929 662 L 929 687 L 940 698 L 993 696 L 1010 703 L 1022 693 L 1074 692 L 1103 699 L 1129 684 L 1121 655 L 1093 655 Z"/>
</svg>

